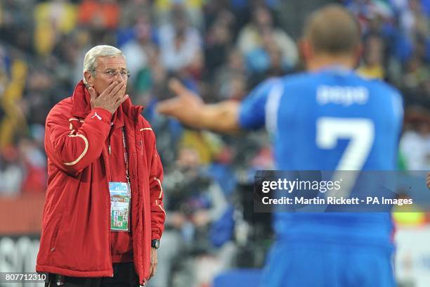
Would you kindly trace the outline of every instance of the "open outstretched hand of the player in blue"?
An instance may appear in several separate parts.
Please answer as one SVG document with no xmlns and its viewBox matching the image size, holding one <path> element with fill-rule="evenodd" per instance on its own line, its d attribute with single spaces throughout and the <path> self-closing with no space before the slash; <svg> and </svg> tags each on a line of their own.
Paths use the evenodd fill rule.
<svg viewBox="0 0 430 287">
<path fill-rule="evenodd" d="M 159 102 L 158 113 L 176 117 L 184 125 L 195 126 L 198 121 L 196 115 L 204 105 L 202 99 L 193 91 L 185 88 L 177 79 L 169 82 L 169 88 L 174 91 L 176 97 Z"/>
</svg>

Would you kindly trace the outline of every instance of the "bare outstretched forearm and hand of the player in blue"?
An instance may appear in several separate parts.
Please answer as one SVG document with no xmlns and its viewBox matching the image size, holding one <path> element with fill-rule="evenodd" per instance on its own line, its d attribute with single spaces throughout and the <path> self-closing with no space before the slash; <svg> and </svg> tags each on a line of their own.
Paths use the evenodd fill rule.
<svg viewBox="0 0 430 287">
<path fill-rule="evenodd" d="M 169 87 L 176 94 L 175 98 L 162 101 L 157 111 L 163 115 L 175 117 L 183 125 L 214 132 L 233 133 L 240 130 L 238 122 L 239 103 L 221 101 L 205 104 L 202 99 L 185 88 L 177 79 L 169 82 Z"/>
</svg>

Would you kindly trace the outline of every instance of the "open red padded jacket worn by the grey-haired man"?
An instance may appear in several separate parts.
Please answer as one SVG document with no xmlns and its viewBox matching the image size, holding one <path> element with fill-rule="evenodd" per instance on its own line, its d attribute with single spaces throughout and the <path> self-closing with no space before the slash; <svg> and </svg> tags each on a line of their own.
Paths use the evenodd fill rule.
<svg viewBox="0 0 430 287">
<path fill-rule="evenodd" d="M 37 272 L 65 276 L 113 276 L 110 254 L 110 165 L 105 141 L 112 114 L 91 110 L 79 82 L 73 96 L 46 118 L 48 190 Z M 124 117 L 131 181 L 133 259 L 142 284 L 150 274 L 150 241 L 164 229 L 163 170 L 155 134 L 127 99 L 115 113 Z M 116 151 L 121 152 L 122 151 Z"/>
</svg>

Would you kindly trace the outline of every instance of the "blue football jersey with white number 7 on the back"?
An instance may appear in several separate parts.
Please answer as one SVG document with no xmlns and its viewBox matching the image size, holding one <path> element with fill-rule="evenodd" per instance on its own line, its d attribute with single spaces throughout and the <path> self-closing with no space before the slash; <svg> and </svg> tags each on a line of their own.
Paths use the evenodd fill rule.
<svg viewBox="0 0 430 287">
<path fill-rule="evenodd" d="M 269 79 L 242 102 L 243 129 L 266 126 L 278 170 L 396 170 L 402 98 L 350 70 Z M 389 213 L 274 215 L 278 238 L 391 244 Z"/>
</svg>

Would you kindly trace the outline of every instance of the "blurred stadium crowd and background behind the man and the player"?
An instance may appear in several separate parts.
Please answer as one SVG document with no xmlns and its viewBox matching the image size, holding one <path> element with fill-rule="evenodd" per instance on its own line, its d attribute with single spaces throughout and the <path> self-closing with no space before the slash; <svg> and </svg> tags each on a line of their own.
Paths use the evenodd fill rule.
<svg viewBox="0 0 430 287">
<path fill-rule="evenodd" d="M 170 77 L 205 101 L 241 101 L 261 80 L 300 70 L 304 19 L 331 2 L 360 20 L 359 72 L 403 92 L 399 168 L 430 170 L 430 0 L 0 1 L 0 272 L 34 270 L 45 117 L 82 78 L 84 53 L 110 44 L 124 52 L 129 94 L 157 134 L 167 286 L 211 286 L 233 269 L 256 278 L 273 239 L 270 218 L 252 212 L 249 196 L 253 172 L 273 167 L 265 132 L 238 139 L 188 130 L 155 113 L 155 103 L 171 96 Z M 396 222 L 398 282 L 430 286 L 430 216 L 400 213 Z M 224 286 L 220 278 L 214 286 Z"/>
</svg>

